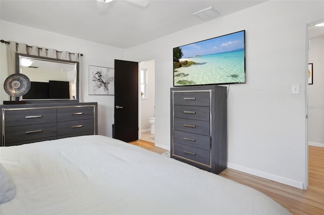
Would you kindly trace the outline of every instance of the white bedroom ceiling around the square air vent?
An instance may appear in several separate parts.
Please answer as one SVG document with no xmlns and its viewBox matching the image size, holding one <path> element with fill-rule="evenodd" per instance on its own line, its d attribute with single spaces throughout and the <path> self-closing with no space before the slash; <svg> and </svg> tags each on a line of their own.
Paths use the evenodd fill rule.
<svg viewBox="0 0 324 215">
<path fill-rule="evenodd" d="M 218 17 L 222 17 L 267 0 L 151 0 L 147 7 L 130 1 L 140 0 L 114 0 L 111 3 L 96 0 L 1 0 L 0 19 L 129 48 L 211 20 L 201 20 L 192 15 L 208 7 L 212 6 L 220 13 Z"/>
</svg>

